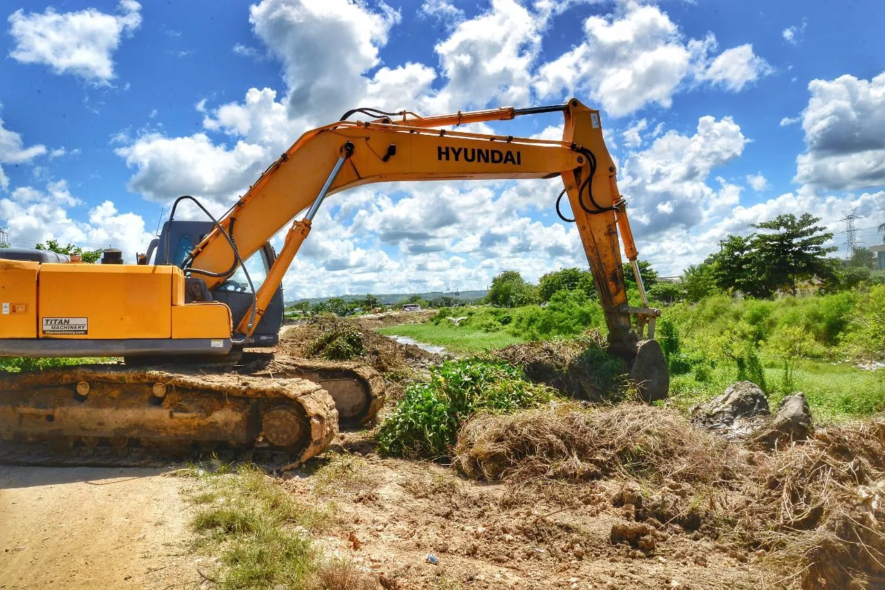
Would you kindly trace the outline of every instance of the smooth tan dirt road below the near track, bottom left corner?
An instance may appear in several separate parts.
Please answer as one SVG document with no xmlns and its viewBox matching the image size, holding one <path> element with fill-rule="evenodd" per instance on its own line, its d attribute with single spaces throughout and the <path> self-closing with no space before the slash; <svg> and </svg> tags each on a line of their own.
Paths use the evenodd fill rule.
<svg viewBox="0 0 885 590">
<path fill-rule="evenodd" d="M 197 587 L 187 483 L 160 473 L 0 466 L 0 588 Z"/>
</svg>

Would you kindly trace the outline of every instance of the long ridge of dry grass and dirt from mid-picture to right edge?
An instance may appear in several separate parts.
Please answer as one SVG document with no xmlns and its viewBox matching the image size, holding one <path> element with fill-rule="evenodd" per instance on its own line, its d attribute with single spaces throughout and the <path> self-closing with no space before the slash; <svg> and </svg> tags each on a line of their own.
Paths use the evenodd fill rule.
<svg viewBox="0 0 885 590">
<path fill-rule="evenodd" d="M 455 451 L 467 475 L 529 486 L 535 499 L 549 499 L 537 491 L 551 485 L 580 499 L 587 480 L 598 479 L 629 522 L 718 539 L 739 561 L 762 555 L 783 587 L 873 588 L 885 580 L 881 418 L 819 429 L 766 454 L 665 408 L 571 404 L 474 418 Z M 654 541 L 645 526 L 612 529 L 612 543 L 644 553 Z"/>
</svg>

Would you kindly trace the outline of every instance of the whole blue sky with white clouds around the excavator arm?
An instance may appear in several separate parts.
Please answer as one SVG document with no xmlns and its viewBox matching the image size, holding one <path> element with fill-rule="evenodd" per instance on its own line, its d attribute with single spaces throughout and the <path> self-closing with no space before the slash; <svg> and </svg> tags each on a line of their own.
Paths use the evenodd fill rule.
<svg viewBox="0 0 885 590">
<path fill-rule="evenodd" d="M 435 114 L 572 96 L 603 111 L 637 245 L 665 276 L 779 213 L 843 232 L 857 209 L 859 242 L 881 241 L 880 2 L 172 6 L 4 3 L 0 225 L 12 245 L 113 245 L 133 260 L 173 198 L 224 211 L 305 129 L 352 107 Z M 473 130 L 558 138 L 561 120 Z M 467 290 L 509 268 L 536 280 L 586 267 L 553 211 L 558 182 L 336 195 L 286 277 L 287 299 Z"/>
</svg>

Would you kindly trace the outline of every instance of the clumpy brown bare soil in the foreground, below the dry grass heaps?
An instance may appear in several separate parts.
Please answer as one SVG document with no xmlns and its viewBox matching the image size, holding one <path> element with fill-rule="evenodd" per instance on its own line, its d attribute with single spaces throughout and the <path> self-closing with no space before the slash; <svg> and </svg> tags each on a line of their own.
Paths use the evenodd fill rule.
<svg viewBox="0 0 885 590">
<path fill-rule="evenodd" d="M 612 527 L 629 536 L 637 525 L 631 508 L 612 504 L 615 480 L 514 494 L 446 466 L 382 458 L 365 432 L 342 435 L 316 461 L 327 462 L 327 476 L 291 474 L 282 485 L 334 502 L 336 524 L 320 542 L 373 572 L 383 588 L 765 586 L 757 555 L 677 525 L 645 531 L 655 540 L 650 551 L 613 544 Z M 562 495 L 576 490 L 579 498 Z M 427 554 L 438 563 L 427 563 Z"/>
</svg>

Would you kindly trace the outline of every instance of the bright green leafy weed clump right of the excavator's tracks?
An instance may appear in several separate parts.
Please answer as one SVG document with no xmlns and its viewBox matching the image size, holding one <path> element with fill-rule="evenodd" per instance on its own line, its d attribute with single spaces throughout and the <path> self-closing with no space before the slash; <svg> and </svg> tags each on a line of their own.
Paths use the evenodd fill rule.
<svg viewBox="0 0 885 590">
<path fill-rule="evenodd" d="M 550 388 L 527 382 L 520 369 L 501 361 L 446 361 L 430 369 L 427 383 L 405 388 L 381 424 L 379 447 L 391 455 L 448 456 L 461 423 L 473 413 L 534 408 L 552 394 Z"/>
</svg>

